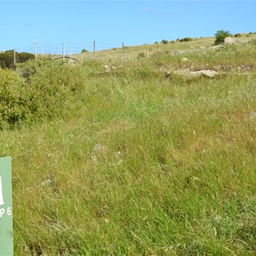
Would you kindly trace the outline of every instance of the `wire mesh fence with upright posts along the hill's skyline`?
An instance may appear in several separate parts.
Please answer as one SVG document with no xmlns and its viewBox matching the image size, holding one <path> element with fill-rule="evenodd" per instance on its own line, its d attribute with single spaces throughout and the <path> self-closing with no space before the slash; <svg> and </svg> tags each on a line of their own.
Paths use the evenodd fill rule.
<svg viewBox="0 0 256 256">
<path fill-rule="evenodd" d="M 47 55 L 53 56 L 55 59 L 69 58 L 78 61 L 118 61 L 123 64 L 124 61 L 137 60 L 138 56 L 149 57 L 153 54 L 150 47 L 139 48 L 136 46 L 125 46 L 124 42 L 119 44 L 102 43 L 102 42 L 80 42 L 80 43 L 40 43 L 35 41 L 23 48 L 16 48 L 16 53 L 29 53 L 35 58 L 42 58 Z M 82 54 L 83 53 L 83 54 Z M 81 55 L 82 54 L 82 55 Z M 19 63 L 19 58 L 16 58 Z"/>
</svg>

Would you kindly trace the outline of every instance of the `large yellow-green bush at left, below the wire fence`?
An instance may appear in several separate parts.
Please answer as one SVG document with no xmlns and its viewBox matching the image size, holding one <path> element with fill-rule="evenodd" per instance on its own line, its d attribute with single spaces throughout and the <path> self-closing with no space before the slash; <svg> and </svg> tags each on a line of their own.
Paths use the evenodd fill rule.
<svg viewBox="0 0 256 256">
<path fill-rule="evenodd" d="M 0 71 L 0 129 L 61 115 L 84 84 L 79 67 L 57 61 L 30 61 L 17 72 Z"/>
</svg>

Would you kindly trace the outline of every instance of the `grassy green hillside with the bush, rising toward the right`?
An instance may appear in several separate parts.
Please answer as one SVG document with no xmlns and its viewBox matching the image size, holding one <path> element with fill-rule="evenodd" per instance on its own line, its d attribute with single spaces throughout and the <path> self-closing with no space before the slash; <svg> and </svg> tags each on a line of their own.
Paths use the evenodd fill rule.
<svg viewBox="0 0 256 256">
<path fill-rule="evenodd" d="M 256 44 L 212 43 L 0 70 L 15 255 L 254 255 Z"/>
</svg>

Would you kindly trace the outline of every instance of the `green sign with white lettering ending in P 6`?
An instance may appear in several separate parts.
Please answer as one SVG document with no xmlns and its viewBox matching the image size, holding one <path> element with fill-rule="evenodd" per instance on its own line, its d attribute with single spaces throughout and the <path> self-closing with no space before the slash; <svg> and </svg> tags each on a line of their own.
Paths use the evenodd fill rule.
<svg viewBox="0 0 256 256">
<path fill-rule="evenodd" d="M 0 256 L 14 255 L 11 158 L 0 158 Z"/>
</svg>

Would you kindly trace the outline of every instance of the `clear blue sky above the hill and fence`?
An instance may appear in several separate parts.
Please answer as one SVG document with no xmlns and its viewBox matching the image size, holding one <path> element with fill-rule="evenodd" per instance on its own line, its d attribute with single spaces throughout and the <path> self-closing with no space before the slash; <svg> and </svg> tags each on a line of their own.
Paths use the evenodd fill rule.
<svg viewBox="0 0 256 256">
<path fill-rule="evenodd" d="M 33 44 L 154 44 L 211 37 L 218 30 L 256 32 L 256 1 L 0 0 L 0 51 Z"/>
</svg>

